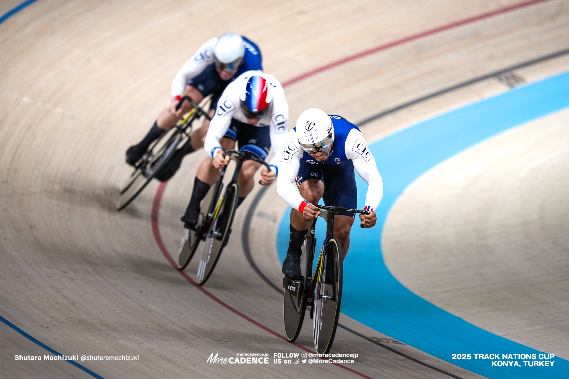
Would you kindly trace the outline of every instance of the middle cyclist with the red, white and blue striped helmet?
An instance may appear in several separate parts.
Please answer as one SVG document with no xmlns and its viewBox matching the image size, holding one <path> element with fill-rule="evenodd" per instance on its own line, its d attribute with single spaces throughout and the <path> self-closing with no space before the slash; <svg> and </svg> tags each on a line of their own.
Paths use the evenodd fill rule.
<svg viewBox="0 0 569 379">
<path fill-rule="evenodd" d="M 279 170 L 278 153 L 287 141 L 288 103 L 281 84 L 273 76 L 258 71 L 241 74 L 231 82 L 217 103 L 217 110 L 205 137 L 204 149 L 209 156 L 197 168 L 192 197 L 182 216 L 187 229 L 194 229 L 200 212 L 200 201 L 217 181 L 219 169 L 229 163 L 230 156 L 223 157 L 224 150 L 233 149 L 237 141 L 261 160 L 265 160 L 270 148 L 275 153 L 269 165 L 263 168 L 261 184 L 270 185 Z M 220 140 L 230 140 L 221 147 Z M 238 182 L 238 205 L 253 190 L 253 176 L 261 166 L 255 161 L 245 161 Z"/>
</svg>

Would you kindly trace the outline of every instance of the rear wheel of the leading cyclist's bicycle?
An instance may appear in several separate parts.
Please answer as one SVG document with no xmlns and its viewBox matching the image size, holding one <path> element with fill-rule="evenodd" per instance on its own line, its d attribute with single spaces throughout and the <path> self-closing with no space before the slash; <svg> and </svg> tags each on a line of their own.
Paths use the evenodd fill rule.
<svg viewBox="0 0 569 379">
<path fill-rule="evenodd" d="M 309 229 L 310 230 L 310 229 Z M 316 243 L 316 239 L 314 240 Z M 307 272 L 312 273 L 311 259 L 309 254 L 314 255 L 314 249 L 310 248 L 308 243 L 308 236 L 304 238 L 302 243 L 302 255 L 300 256 L 300 272 L 302 272 L 302 285 L 303 290 L 300 291 L 299 297 L 295 297 L 286 289 L 284 290 L 283 298 L 283 320 L 284 320 L 284 335 L 289 342 L 294 342 L 300 334 L 302 322 L 304 320 L 304 313 L 306 312 L 306 278 Z M 310 265 L 310 267 L 308 267 Z"/>
</svg>

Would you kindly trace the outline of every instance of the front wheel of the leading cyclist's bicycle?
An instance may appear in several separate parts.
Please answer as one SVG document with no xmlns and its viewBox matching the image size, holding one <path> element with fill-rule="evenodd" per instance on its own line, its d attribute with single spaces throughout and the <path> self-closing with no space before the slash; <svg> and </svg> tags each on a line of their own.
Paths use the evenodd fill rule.
<svg viewBox="0 0 569 379">
<path fill-rule="evenodd" d="M 336 238 L 329 239 L 316 268 L 314 294 L 314 347 L 319 354 L 330 351 L 342 298 L 342 252 Z"/>
</svg>

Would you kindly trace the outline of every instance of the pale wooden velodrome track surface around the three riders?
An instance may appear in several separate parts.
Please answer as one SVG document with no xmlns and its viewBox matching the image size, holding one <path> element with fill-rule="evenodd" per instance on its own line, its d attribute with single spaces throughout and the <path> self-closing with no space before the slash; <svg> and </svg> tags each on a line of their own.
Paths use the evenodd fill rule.
<svg viewBox="0 0 569 379">
<path fill-rule="evenodd" d="M 0 14 L 19 3 L 3 1 Z M 179 217 L 203 151 L 187 157 L 168 186 L 160 186 L 159 204 L 155 203 L 157 182 L 122 213 L 116 211 L 115 204 L 118 187 L 130 171 L 123 163 L 125 149 L 146 133 L 168 103 L 170 82 L 179 67 L 212 36 L 226 31 L 248 36 L 261 47 L 266 72 L 283 84 L 340 59 L 400 41 L 286 86 L 290 126 L 312 106 L 360 122 L 473 78 L 569 48 L 566 1 L 535 1 L 514 7 L 519 4 L 487 0 L 271 2 L 260 6 L 258 2 L 226 1 L 32 3 L 0 24 L 0 316 L 65 355 L 139 356 L 138 361 L 130 362 L 79 361 L 105 378 L 480 377 L 407 345 L 391 343 L 389 347 L 414 360 L 389 351 L 373 343 L 389 336 L 345 316 L 340 320 L 345 328 L 339 328 L 333 351 L 360 354 L 356 363 L 349 365 L 352 372 L 333 365 L 208 365 L 210 353 L 267 352 L 272 362 L 274 352 L 303 351 L 279 338 L 282 295 L 255 273 L 244 256 L 242 226 L 258 189 L 240 208 L 232 239 L 205 286 L 211 296 L 180 276 L 160 252 L 162 247 L 174 254 L 178 248 L 182 233 Z M 477 18 L 479 15 L 485 16 Z M 459 23 L 461 20 L 468 22 Z M 442 26 L 449 27 L 438 30 Z M 405 40 L 409 36 L 417 38 Z M 559 55 L 517 73 L 535 81 L 568 67 L 567 55 Z M 377 118 L 362 131 L 373 141 L 418 120 L 506 90 L 493 78 L 477 81 Z M 557 117 L 555 124 L 563 125 L 567 119 L 566 113 Z M 540 137 L 539 125 L 527 128 L 531 138 L 549 141 L 543 149 L 566 154 L 551 136 Z M 567 141 L 566 124 L 551 133 Z M 475 161 L 481 154 L 496 152 L 502 144 L 512 145 L 513 154 L 522 155 L 523 139 L 527 138 L 523 132 L 501 138 L 493 145 L 477 147 L 481 149 L 478 153 L 461 155 L 460 162 Z M 543 151 L 534 155 L 546 163 L 559 157 L 568 161 L 567 155 L 548 158 Z M 512 159 L 502 159 L 510 170 L 517 168 Z M 524 286 L 535 287 L 530 274 L 529 282 L 514 281 L 515 267 L 496 269 L 496 283 L 517 290 L 498 292 L 491 298 L 487 293 L 492 288 L 485 283 L 473 283 L 472 291 L 451 293 L 443 286 L 462 280 L 463 272 L 484 272 L 485 266 L 469 266 L 461 260 L 463 265 L 440 269 L 436 255 L 427 251 L 428 270 L 422 271 L 415 261 L 418 257 L 405 254 L 409 244 L 427 245 L 428 241 L 432 245 L 434 231 L 444 235 L 441 228 L 452 228 L 445 223 L 446 215 L 456 209 L 469 188 L 467 179 L 448 179 L 460 162 L 422 177 L 422 182 L 409 189 L 409 197 L 397 203 L 398 213 L 390 215 L 384 238 L 387 264 L 403 284 L 443 309 L 530 347 L 554 347 L 567 359 L 567 295 L 552 293 L 547 281 L 540 282 L 533 293 L 534 298 L 547 293 L 542 301 L 513 307 L 504 297 L 514 296 L 519 303 Z M 490 167 L 486 171 L 489 173 L 474 173 L 476 178 L 472 179 L 485 189 L 477 192 L 486 196 L 484 204 L 508 197 L 508 190 L 516 191 L 522 185 L 523 177 L 519 177 L 510 181 L 508 188 L 493 191 L 492 178 L 503 173 Z M 517 215 L 523 234 L 530 237 L 547 228 L 524 222 L 536 215 L 543 220 L 553 214 L 554 226 L 567 225 L 567 200 L 559 195 L 567 188 L 563 186 L 567 176 L 560 176 L 563 170 L 559 169 L 540 172 L 541 180 L 557 185 L 550 186 L 551 196 L 548 192 L 539 195 L 549 199 L 547 206 Z M 436 185 L 440 182 L 443 184 Z M 452 201 L 432 201 L 440 197 L 442 189 Z M 417 202 L 409 199 L 422 201 L 422 205 L 417 208 Z M 248 235 L 250 254 L 258 269 L 278 285 L 282 274 L 275 238 L 286 206 L 274 186 L 256 206 Z M 502 208 L 498 219 L 509 214 L 508 203 Z M 460 219 L 464 217 L 465 223 L 473 225 L 483 222 L 487 213 L 472 210 L 460 208 Z M 410 223 L 410 214 L 422 216 Z M 490 227 L 498 224 L 490 223 Z M 520 232 L 518 224 L 509 224 L 508 233 Z M 409 228 L 421 231 L 427 225 L 433 232 L 411 234 L 417 235 L 417 240 L 409 241 L 402 234 Z M 567 228 L 549 230 L 549 234 L 542 232 L 538 239 L 529 240 L 559 241 L 555 251 L 559 257 L 563 252 L 566 255 L 568 242 L 563 231 Z M 157 232 L 163 246 L 156 245 Z M 489 229 L 481 228 L 480 233 L 494 236 Z M 455 233 L 447 244 L 464 239 Z M 513 240 L 532 261 L 531 245 L 524 245 L 524 239 L 516 236 Z M 503 243 L 497 238 L 493 241 Z M 452 253 L 446 249 L 442 255 L 451 257 Z M 476 248 L 470 252 L 477 253 Z M 560 258 L 539 265 L 538 272 L 547 276 L 547 264 L 554 262 L 556 277 L 562 280 L 567 265 Z M 186 272 L 193 278 L 195 270 L 193 262 Z M 566 284 L 567 278 L 563 280 Z M 461 301 L 453 302 L 452 297 L 457 296 Z M 523 328 L 509 330 L 516 318 L 535 328 L 527 333 Z M 310 322 L 305 323 L 297 342 L 312 349 Z M 15 361 L 18 354 L 43 356 L 47 351 L 6 323 L 0 323 L 0 346 L 0 377 L 90 377 L 85 370 L 63 361 Z"/>
</svg>

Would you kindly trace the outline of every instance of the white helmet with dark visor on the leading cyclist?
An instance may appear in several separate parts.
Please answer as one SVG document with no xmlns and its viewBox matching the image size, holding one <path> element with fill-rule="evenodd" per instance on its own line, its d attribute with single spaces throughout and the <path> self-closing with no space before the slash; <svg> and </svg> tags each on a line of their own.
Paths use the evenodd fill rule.
<svg viewBox="0 0 569 379">
<path fill-rule="evenodd" d="M 327 151 L 334 142 L 332 119 L 324 111 L 307 109 L 296 120 L 296 137 L 309 154 Z"/>
</svg>

